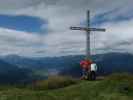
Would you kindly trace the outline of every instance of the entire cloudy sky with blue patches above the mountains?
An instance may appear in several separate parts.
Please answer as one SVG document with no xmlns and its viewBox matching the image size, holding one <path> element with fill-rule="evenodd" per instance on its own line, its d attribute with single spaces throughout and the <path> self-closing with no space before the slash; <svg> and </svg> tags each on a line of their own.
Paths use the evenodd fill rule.
<svg viewBox="0 0 133 100">
<path fill-rule="evenodd" d="M 132 0 L 0 0 L 0 55 L 63 56 L 85 54 L 86 33 L 70 26 L 91 26 L 91 52 L 133 53 Z"/>
</svg>

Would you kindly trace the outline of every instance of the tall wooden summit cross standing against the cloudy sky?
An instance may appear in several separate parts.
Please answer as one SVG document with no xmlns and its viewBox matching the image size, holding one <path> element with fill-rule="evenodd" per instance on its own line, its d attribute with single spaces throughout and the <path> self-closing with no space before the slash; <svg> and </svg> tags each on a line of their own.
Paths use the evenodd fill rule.
<svg viewBox="0 0 133 100">
<path fill-rule="evenodd" d="M 87 27 L 70 27 L 71 30 L 81 30 L 86 31 L 86 59 L 90 59 L 90 32 L 91 31 L 101 31 L 105 32 L 104 28 L 90 28 L 90 11 L 87 11 Z"/>
</svg>

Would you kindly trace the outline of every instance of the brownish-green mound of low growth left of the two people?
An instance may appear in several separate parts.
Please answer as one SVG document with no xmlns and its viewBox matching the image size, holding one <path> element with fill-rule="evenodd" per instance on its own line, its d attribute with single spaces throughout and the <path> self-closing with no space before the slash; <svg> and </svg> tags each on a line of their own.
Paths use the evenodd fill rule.
<svg viewBox="0 0 133 100">
<path fill-rule="evenodd" d="M 63 76 L 50 76 L 48 80 L 37 81 L 32 89 L 35 90 L 47 90 L 47 89 L 58 89 L 63 88 L 72 84 L 76 84 L 78 80 L 71 77 Z"/>
</svg>

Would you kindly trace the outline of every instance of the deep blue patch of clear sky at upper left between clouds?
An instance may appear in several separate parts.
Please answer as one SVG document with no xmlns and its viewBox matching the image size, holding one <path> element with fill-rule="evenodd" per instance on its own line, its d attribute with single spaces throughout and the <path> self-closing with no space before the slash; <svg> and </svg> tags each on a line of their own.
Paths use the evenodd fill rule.
<svg viewBox="0 0 133 100">
<path fill-rule="evenodd" d="M 0 27 L 24 32 L 47 33 L 48 21 L 34 16 L 0 15 Z"/>
</svg>

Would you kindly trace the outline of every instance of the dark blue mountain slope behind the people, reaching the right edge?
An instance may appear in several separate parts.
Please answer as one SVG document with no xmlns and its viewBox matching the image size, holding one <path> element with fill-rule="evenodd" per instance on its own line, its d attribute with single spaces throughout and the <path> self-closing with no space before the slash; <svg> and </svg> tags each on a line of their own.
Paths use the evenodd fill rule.
<svg viewBox="0 0 133 100">
<path fill-rule="evenodd" d="M 133 73 L 133 55 L 127 53 L 107 53 L 92 57 L 98 65 L 98 75 L 108 75 L 114 72 Z M 81 59 L 82 60 L 82 59 Z M 80 76 L 81 68 L 79 61 L 60 72 L 61 75 Z"/>
</svg>

